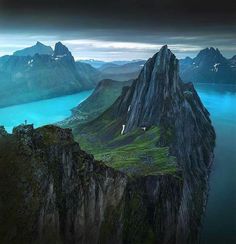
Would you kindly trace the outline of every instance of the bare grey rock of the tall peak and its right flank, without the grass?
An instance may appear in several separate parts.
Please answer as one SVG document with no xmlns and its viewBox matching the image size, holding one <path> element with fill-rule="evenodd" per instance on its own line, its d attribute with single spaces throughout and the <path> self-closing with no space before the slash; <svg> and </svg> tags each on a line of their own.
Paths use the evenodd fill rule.
<svg viewBox="0 0 236 244">
<path fill-rule="evenodd" d="M 104 125 L 104 121 L 112 122 Z M 144 131 L 153 126 L 160 128 L 156 146 L 169 147 L 183 173 L 176 243 L 197 242 L 215 132 L 193 85 L 181 81 L 178 60 L 167 46 L 147 61 L 132 86 L 125 88 L 100 118 L 82 127 L 81 133 L 92 135 L 95 129 L 102 130 L 99 127 L 102 123 L 108 129 L 105 135 L 97 132 L 100 141 L 120 132 L 129 135 L 137 128 Z"/>
</svg>

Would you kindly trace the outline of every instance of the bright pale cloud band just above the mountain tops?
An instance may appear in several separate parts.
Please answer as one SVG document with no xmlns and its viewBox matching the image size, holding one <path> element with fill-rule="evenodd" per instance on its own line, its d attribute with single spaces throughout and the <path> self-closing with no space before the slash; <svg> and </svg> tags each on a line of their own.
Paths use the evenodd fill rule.
<svg viewBox="0 0 236 244">
<path fill-rule="evenodd" d="M 42 31 L 17 33 L 9 31 L 0 34 L 0 55 L 11 54 L 16 50 L 34 45 L 41 41 L 46 45 L 54 46 L 57 41 L 62 41 L 71 50 L 75 59 L 101 59 L 132 60 L 148 59 L 164 45 L 178 58 L 196 56 L 203 48 L 218 47 L 228 57 L 236 53 L 234 33 L 202 33 L 183 35 L 183 33 L 151 33 L 142 30 L 111 30 L 94 29 L 81 31 Z M 224 38 L 223 38 L 224 37 Z"/>
</svg>

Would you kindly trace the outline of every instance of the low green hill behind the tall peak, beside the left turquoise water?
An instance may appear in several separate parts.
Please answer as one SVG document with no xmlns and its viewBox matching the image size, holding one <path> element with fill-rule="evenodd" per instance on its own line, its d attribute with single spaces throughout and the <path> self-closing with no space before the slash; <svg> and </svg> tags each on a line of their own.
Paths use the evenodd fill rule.
<svg viewBox="0 0 236 244">
<path fill-rule="evenodd" d="M 72 116 L 57 123 L 62 127 L 74 127 L 80 123 L 91 121 L 101 115 L 121 95 L 122 88 L 131 85 L 126 82 L 101 80 L 93 93 L 77 107 L 72 109 Z"/>
</svg>

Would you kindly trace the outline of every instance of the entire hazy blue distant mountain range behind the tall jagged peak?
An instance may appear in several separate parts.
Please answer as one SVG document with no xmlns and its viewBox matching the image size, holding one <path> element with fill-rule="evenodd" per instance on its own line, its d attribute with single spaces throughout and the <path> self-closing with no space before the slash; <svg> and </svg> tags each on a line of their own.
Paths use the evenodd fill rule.
<svg viewBox="0 0 236 244">
<path fill-rule="evenodd" d="M 145 62 L 75 61 L 61 42 L 54 50 L 37 42 L 0 57 L 0 107 L 92 89 L 104 79 L 136 79 Z M 206 48 L 195 58 L 180 60 L 180 77 L 184 82 L 236 84 L 236 55 L 226 59 L 218 49 Z"/>
</svg>

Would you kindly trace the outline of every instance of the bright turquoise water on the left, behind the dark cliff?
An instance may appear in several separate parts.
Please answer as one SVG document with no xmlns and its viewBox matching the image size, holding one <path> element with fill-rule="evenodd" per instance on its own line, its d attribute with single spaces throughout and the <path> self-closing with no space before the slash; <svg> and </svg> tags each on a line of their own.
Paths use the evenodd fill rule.
<svg viewBox="0 0 236 244">
<path fill-rule="evenodd" d="M 14 126 L 33 123 L 34 127 L 56 123 L 71 115 L 71 109 L 84 101 L 92 90 L 74 95 L 41 100 L 0 109 L 0 125 L 4 125 L 8 132 Z"/>
</svg>

